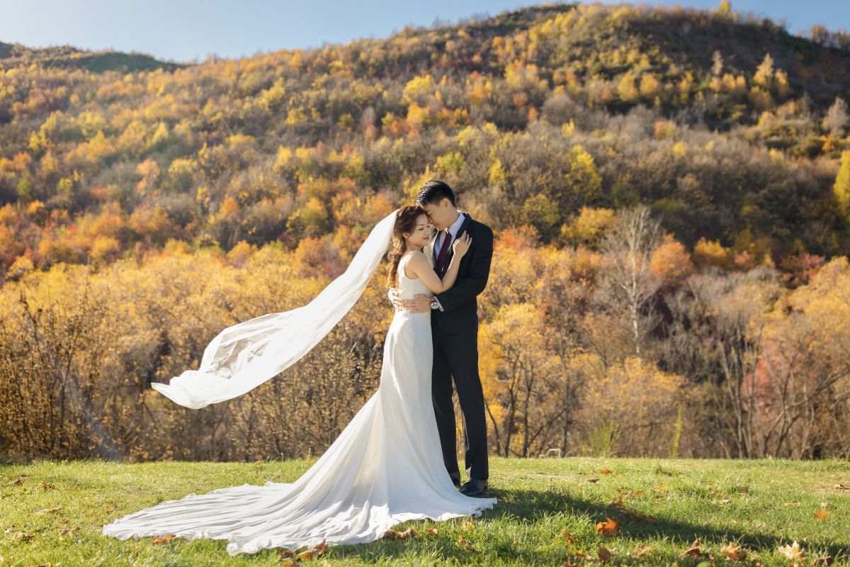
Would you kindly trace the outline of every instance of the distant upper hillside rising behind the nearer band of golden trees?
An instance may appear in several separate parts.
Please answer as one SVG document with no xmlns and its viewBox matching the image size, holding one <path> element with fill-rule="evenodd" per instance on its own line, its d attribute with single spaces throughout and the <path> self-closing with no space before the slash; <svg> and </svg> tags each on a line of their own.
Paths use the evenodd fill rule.
<svg viewBox="0 0 850 567">
<path fill-rule="evenodd" d="M 544 241 L 568 243 L 582 206 L 641 201 L 689 247 L 844 253 L 834 35 L 844 49 L 734 13 L 561 4 L 201 65 L 5 45 L 3 267 L 294 246 L 430 177 Z"/>
</svg>

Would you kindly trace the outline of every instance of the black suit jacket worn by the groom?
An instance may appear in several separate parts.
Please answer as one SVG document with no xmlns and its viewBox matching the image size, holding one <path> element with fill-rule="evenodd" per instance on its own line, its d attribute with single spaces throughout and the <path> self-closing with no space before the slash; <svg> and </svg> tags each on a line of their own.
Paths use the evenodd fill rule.
<svg viewBox="0 0 850 567">
<path fill-rule="evenodd" d="M 431 311 L 431 328 L 434 331 L 449 335 L 478 332 L 478 295 L 487 286 L 490 278 L 490 260 L 493 258 L 493 231 L 486 224 L 474 220 L 469 213 L 462 213 L 466 219 L 461 224 L 457 236 L 466 232 L 472 239 L 472 245 L 461 258 L 458 266 L 455 285 L 445 292 L 436 294 L 443 310 Z M 433 239 L 433 260 L 436 265 L 437 250 Z M 449 248 L 445 268 L 448 268 L 452 257 Z M 445 273 L 445 272 L 444 272 Z M 440 273 L 440 278 L 444 273 Z"/>
</svg>

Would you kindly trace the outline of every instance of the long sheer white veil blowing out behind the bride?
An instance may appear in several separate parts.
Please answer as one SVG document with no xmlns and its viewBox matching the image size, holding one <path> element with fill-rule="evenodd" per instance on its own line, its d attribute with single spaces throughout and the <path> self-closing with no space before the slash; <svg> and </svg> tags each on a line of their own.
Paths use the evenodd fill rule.
<svg viewBox="0 0 850 567">
<path fill-rule="evenodd" d="M 363 294 L 393 235 L 399 209 L 382 218 L 342 275 L 313 301 L 229 326 L 204 349 L 198 370 L 150 386 L 193 409 L 230 400 L 292 366 L 337 325 Z"/>
</svg>

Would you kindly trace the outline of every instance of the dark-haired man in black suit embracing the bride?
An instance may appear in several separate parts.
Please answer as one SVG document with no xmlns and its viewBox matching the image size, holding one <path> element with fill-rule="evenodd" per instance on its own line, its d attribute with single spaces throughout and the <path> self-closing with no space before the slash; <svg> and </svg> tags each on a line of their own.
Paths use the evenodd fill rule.
<svg viewBox="0 0 850 567">
<path fill-rule="evenodd" d="M 461 484 L 457 467 L 455 405 L 451 401 L 451 378 L 455 379 L 457 399 L 461 403 L 463 442 L 466 450 L 467 482 L 462 494 L 478 496 L 487 488 L 487 424 L 484 420 L 484 392 L 478 371 L 478 302 L 490 276 L 493 257 L 493 231 L 456 208 L 455 193 L 448 184 L 430 180 L 422 185 L 416 204 L 425 208 L 438 232 L 431 236 L 426 253 L 443 278 L 452 256 L 451 243 L 466 232 L 472 246 L 461 258 L 455 285 L 436 296 L 416 295 L 399 299 L 390 291 L 397 309 L 422 313 L 432 309 L 431 337 L 433 367 L 431 394 L 437 417 L 439 443 L 445 468 L 455 485 Z"/>
</svg>

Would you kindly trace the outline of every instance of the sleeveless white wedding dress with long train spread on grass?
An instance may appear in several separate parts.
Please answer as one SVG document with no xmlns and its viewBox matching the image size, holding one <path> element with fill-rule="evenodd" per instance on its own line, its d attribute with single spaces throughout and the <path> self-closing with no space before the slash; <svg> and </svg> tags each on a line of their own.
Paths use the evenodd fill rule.
<svg viewBox="0 0 850 567">
<path fill-rule="evenodd" d="M 399 262 L 401 298 L 430 295 Z M 160 502 L 105 525 L 139 536 L 226 539 L 227 552 L 375 541 L 411 519 L 479 515 L 496 498 L 463 496 L 440 451 L 431 403 L 431 313 L 397 311 L 383 350 L 381 383 L 324 455 L 293 483 L 240 485 Z M 296 427 L 292 424 L 292 427 Z"/>
</svg>

